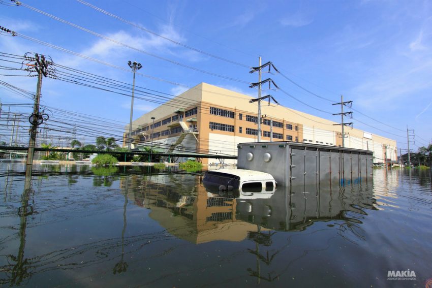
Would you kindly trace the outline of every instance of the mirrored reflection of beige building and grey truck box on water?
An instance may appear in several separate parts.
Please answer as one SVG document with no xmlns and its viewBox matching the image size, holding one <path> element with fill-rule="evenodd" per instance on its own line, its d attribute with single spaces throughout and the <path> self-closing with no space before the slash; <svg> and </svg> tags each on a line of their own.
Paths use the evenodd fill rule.
<svg viewBox="0 0 432 288">
<path fill-rule="evenodd" d="M 257 233 L 269 230 L 301 231 L 315 221 L 361 223 L 353 215 L 376 209 L 372 189 L 355 185 L 219 191 L 206 188 L 201 176 L 177 176 L 147 176 L 128 197 L 150 209 L 149 216 L 170 234 L 196 244 L 258 239 Z"/>
</svg>

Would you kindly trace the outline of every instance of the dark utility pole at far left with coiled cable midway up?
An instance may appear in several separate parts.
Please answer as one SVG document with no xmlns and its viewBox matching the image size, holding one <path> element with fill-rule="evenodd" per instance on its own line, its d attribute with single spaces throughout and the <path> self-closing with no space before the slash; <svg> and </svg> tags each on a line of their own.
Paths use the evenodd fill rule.
<svg viewBox="0 0 432 288">
<path fill-rule="evenodd" d="M 26 53 L 27 55 L 27 53 Z M 26 60 L 35 61 L 34 65 L 26 64 L 27 66 L 34 67 L 38 73 L 38 84 L 36 86 L 35 104 L 33 106 L 33 114 L 30 115 L 28 121 L 32 124 L 30 127 L 30 139 L 28 141 L 28 151 L 27 151 L 27 163 L 25 166 L 25 186 L 30 187 L 30 180 L 32 178 L 32 168 L 33 168 L 33 156 L 35 154 L 35 143 L 36 136 L 38 133 L 38 126 L 42 124 L 44 118 L 42 114 L 39 113 L 39 102 L 41 98 L 41 88 L 42 88 L 42 76 L 47 77 L 49 74 L 48 65 L 52 65 L 52 61 L 45 59 L 44 55 L 39 56 L 35 54 L 35 57 L 24 57 Z M 32 70 L 34 72 L 34 70 Z"/>
</svg>

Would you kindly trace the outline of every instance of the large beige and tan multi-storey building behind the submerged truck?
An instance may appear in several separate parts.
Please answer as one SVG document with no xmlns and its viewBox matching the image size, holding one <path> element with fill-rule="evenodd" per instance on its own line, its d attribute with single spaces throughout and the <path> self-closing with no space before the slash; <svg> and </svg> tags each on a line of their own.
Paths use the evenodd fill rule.
<svg viewBox="0 0 432 288">
<path fill-rule="evenodd" d="M 238 143 L 257 141 L 258 104 L 250 103 L 252 99 L 201 83 L 133 121 L 132 147 L 152 143 L 153 148 L 164 152 L 237 155 Z M 265 101 L 261 102 L 261 114 L 262 142 L 342 146 L 341 126 L 334 121 Z M 129 126 L 126 131 L 124 143 L 129 138 Z M 384 163 L 386 158 L 396 161 L 396 141 L 350 127 L 345 132 L 345 147 L 372 150 L 374 163 Z M 218 159 L 204 158 L 203 163 L 218 163 Z"/>
</svg>

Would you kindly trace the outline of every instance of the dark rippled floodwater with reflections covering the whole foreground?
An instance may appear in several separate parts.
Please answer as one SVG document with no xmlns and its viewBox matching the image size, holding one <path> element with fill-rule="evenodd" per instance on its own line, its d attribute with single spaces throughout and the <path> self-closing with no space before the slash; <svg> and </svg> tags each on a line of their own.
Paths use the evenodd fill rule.
<svg viewBox="0 0 432 288">
<path fill-rule="evenodd" d="M 233 198 L 208 193 L 202 172 L 34 169 L 24 190 L 24 165 L 0 163 L 1 286 L 424 287 L 432 278 L 430 171 L 374 169 L 373 183 Z"/>
</svg>

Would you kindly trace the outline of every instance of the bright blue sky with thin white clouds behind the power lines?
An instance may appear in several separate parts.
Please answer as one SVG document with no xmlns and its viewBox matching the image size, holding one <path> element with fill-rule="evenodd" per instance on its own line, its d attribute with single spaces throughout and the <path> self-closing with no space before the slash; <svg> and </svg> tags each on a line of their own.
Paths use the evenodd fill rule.
<svg viewBox="0 0 432 288">
<path fill-rule="evenodd" d="M 407 125 L 415 130 L 415 145 L 432 137 L 432 2 L 431 1 L 96 1 L 88 3 L 182 44 L 247 66 L 274 65 L 300 86 L 323 98 L 352 100 L 354 127 L 379 134 L 407 148 Z M 185 86 L 200 82 L 256 95 L 248 84 L 228 80 L 152 57 L 115 44 L 24 6 L 0 4 L 0 25 L 91 58 L 128 68 L 128 60 L 142 63 L 139 73 Z M 182 65 L 246 82 L 257 74 L 233 63 L 179 46 L 136 26 L 107 16 L 78 1 L 24 0 L 25 5 L 70 21 L 95 33 L 168 58 Z M 5 5 L 7 4 L 7 5 Z M 132 73 L 73 56 L 20 36 L 0 35 L 0 51 L 49 55 L 55 63 L 132 83 Z M 129 68 L 128 68 L 129 69 Z M 10 72 L 2 71 L 2 74 Z M 266 77 L 267 75 L 264 75 Z M 283 78 L 270 77 L 284 91 L 310 106 L 330 113 L 338 107 Z M 1 76 L 5 82 L 35 91 L 35 77 Z M 170 94 L 184 86 L 137 74 L 136 84 Z M 50 107 L 129 122 L 130 101 L 125 95 L 43 80 L 43 103 Z M 330 120 L 340 118 L 315 110 L 271 91 L 282 105 Z M 29 103 L 0 89 L 4 103 Z M 156 107 L 135 100 L 134 119 Z M 24 111 L 13 107 L 11 110 Z M 27 109 L 29 111 L 29 109 Z M 55 115 L 53 115 L 55 117 Z M 383 123 L 380 123 L 383 122 Z M 386 125 L 389 124 L 389 125 Z M 414 146 L 414 147 L 413 147 Z"/>
</svg>

